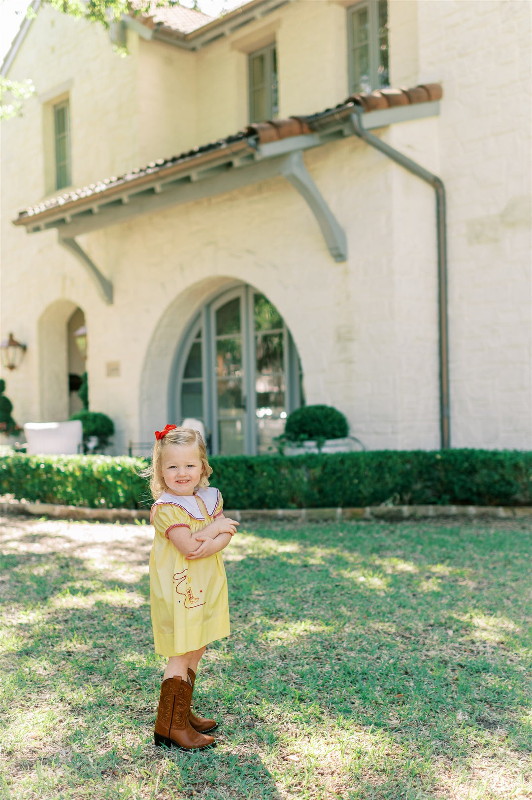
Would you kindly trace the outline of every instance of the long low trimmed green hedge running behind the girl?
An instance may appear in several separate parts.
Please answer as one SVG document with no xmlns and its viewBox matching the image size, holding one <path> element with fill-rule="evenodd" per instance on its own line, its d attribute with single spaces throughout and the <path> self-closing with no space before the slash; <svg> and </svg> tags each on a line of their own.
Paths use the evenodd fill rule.
<svg viewBox="0 0 532 800">
<path fill-rule="evenodd" d="M 390 505 L 530 506 L 532 453 L 517 450 L 375 450 L 288 456 L 214 456 L 211 486 L 226 508 Z M 90 508 L 142 508 L 143 458 L 0 458 L 2 494 Z"/>
</svg>

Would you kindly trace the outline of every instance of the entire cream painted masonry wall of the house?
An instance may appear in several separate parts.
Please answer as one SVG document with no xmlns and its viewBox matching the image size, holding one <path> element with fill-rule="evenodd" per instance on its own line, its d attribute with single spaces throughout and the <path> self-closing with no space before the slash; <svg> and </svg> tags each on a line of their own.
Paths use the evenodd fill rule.
<svg viewBox="0 0 532 800">
<path fill-rule="evenodd" d="M 7 376 L 19 423 L 66 415 L 54 386 L 66 365 L 61 332 L 79 306 L 90 407 L 113 418 L 116 452 L 150 440 L 170 421 L 171 367 L 187 326 L 238 281 L 285 318 L 307 403 L 338 407 L 370 449 L 439 446 L 434 192 L 354 136 L 305 155 L 346 231 L 346 262 L 331 258 L 284 178 L 79 237 L 113 282 L 109 306 L 53 230 L 28 235 L 10 224 L 46 196 L 43 103 L 62 90 L 70 92 L 73 182 L 82 186 L 246 126 L 247 54 L 269 38 L 278 46 L 280 115 L 334 106 L 348 94 L 347 5 L 293 2 L 198 53 L 129 30 L 127 58 L 97 27 L 39 11 L 10 70 L 34 78 L 37 98 L 4 126 L 2 142 L 2 337 L 13 330 L 28 345 Z M 441 82 L 444 90 L 438 117 L 378 135 L 446 184 L 451 442 L 528 448 L 530 8 L 389 6 L 392 85 Z M 106 374 L 109 362 L 118 375 Z"/>
</svg>

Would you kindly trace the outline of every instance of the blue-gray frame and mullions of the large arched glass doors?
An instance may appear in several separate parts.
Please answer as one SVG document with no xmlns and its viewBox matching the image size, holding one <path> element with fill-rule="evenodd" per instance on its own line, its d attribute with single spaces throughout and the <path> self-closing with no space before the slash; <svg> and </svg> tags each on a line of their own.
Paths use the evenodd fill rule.
<svg viewBox="0 0 532 800">
<path fill-rule="evenodd" d="M 170 418 L 180 425 L 183 421 L 181 410 L 181 390 L 185 373 L 186 362 L 190 354 L 190 348 L 202 330 L 202 393 L 203 393 L 203 424 L 207 438 L 210 438 L 210 454 L 218 455 L 218 414 L 216 409 L 215 379 L 214 379 L 214 314 L 226 302 L 242 296 L 242 362 L 244 365 L 244 376 L 246 381 L 246 425 L 245 428 L 245 451 L 248 455 L 257 454 L 257 437 L 254 435 L 254 425 L 256 423 L 256 398 L 252 377 L 254 376 L 254 366 L 252 353 L 254 348 L 254 319 L 253 319 L 253 295 L 263 294 L 260 290 L 249 284 L 238 284 L 216 294 L 210 298 L 202 307 L 202 310 L 194 316 L 192 322 L 186 329 L 174 356 L 174 363 L 170 370 L 170 386 L 168 408 Z M 298 350 L 290 330 L 286 326 L 283 318 L 284 348 L 283 360 L 286 378 L 286 414 L 304 404 L 302 391 L 301 366 Z M 191 379 L 192 380 L 192 379 Z M 199 379 L 198 379 L 199 382 Z M 210 436 L 209 436 L 210 434 Z"/>
</svg>

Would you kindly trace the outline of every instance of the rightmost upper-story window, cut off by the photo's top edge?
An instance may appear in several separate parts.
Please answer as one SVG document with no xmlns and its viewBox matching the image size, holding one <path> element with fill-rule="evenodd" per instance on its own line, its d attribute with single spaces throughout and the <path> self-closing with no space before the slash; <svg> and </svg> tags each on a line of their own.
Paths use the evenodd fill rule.
<svg viewBox="0 0 532 800">
<path fill-rule="evenodd" d="M 364 0 L 347 11 L 350 94 L 390 86 L 388 0 Z"/>
</svg>

